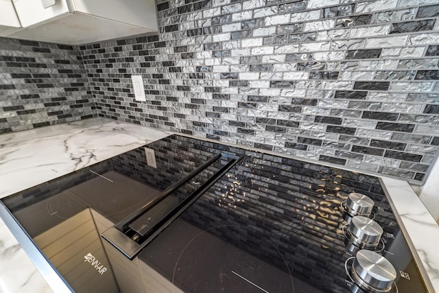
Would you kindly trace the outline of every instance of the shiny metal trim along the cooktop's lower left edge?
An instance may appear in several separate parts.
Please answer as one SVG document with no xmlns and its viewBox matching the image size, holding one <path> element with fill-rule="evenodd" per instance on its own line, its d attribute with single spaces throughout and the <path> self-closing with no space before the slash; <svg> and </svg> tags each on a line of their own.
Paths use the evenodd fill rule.
<svg viewBox="0 0 439 293">
<path fill-rule="evenodd" d="M 21 225 L 16 222 L 14 216 L 10 213 L 8 208 L 0 201 L 0 218 L 3 219 L 6 226 L 12 232 L 12 235 L 17 239 L 29 259 L 31 259 L 37 270 L 40 271 L 43 278 L 47 281 L 50 288 L 54 292 L 75 292 L 67 281 L 58 273 L 49 260 L 43 255 L 43 252 L 36 246 L 29 235 L 23 230 Z"/>
</svg>

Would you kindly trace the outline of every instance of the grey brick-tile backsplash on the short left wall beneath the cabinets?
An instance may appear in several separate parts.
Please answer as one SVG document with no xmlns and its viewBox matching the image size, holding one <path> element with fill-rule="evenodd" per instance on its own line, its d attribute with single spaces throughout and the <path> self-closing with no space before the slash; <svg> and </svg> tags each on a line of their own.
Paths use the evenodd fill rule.
<svg viewBox="0 0 439 293">
<path fill-rule="evenodd" d="M 0 133 L 96 116 L 77 47 L 0 38 Z"/>
</svg>

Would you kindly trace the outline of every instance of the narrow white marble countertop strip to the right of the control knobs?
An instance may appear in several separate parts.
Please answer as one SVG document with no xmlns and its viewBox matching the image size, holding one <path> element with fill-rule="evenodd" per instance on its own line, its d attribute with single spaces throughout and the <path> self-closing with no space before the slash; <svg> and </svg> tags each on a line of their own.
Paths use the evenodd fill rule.
<svg viewBox="0 0 439 293">
<path fill-rule="evenodd" d="M 429 292 L 439 288 L 439 226 L 414 193 L 412 187 L 402 180 L 381 178 L 390 196 L 390 202 L 398 211 L 396 217 L 402 222 L 401 229 L 423 275 Z M 410 235 L 410 237 L 407 237 Z"/>
</svg>

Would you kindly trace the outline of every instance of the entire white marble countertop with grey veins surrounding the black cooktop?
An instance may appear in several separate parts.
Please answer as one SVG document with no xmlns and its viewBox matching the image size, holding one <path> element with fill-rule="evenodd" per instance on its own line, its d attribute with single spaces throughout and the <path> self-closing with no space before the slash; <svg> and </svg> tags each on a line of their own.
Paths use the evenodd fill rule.
<svg viewBox="0 0 439 293">
<path fill-rule="evenodd" d="M 0 198 L 167 135 L 106 119 L 0 135 Z M 382 180 L 429 292 L 439 292 L 439 226 L 407 182 Z M 52 292 L 1 219 L 0 292 Z"/>
</svg>

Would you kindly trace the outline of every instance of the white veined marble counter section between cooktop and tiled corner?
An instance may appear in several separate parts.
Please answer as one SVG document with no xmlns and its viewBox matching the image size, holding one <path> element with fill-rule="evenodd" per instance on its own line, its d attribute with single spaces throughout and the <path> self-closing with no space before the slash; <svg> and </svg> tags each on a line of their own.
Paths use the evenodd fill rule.
<svg viewBox="0 0 439 293">
<path fill-rule="evenodd" d="M 0 198 L 166 137 L 160 130 L 107 119 L 0 136 Z"/>
</svg>

